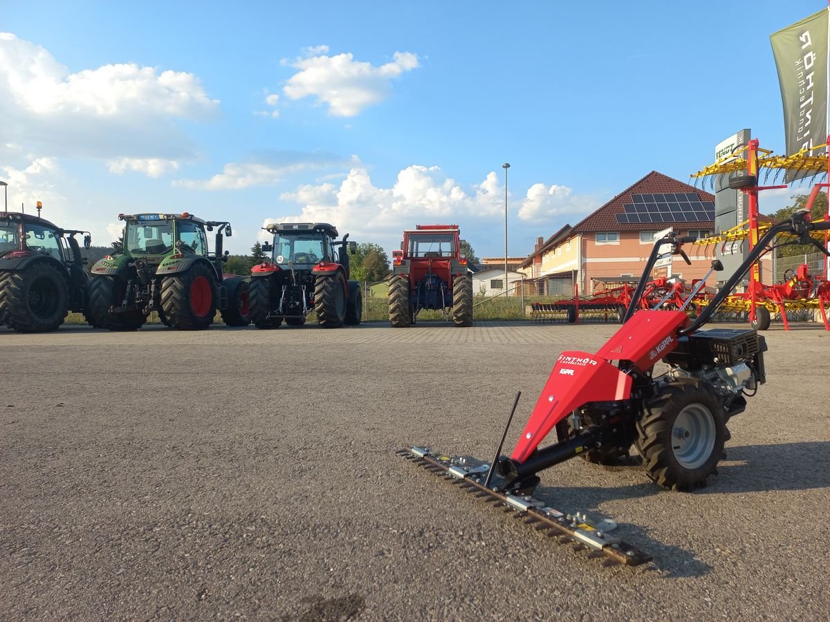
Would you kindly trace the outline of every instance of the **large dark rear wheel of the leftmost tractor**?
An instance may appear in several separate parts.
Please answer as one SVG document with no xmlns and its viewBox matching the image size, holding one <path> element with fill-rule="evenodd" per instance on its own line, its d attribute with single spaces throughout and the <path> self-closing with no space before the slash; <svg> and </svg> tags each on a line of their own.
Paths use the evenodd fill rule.
<svg viewBox="0 0 830 622">
<path fill-rule="evenodd" d="M 0 276 L 0 309 L 8 328 L 21 333 L 56 330 L 69 313 L 69 286 L 56 265 L 38 262 Z"/>
</svg>

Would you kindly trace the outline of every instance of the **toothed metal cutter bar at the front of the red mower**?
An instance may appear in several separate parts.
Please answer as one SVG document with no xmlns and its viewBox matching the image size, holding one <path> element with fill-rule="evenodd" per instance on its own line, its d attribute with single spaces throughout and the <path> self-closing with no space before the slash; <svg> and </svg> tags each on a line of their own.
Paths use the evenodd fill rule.
<svg viewBox="0 0 830 622">
<path fill-rule="evenodd" d="M 520 519 L 559 544 L 570 544 L 574 551 L 587 552 L 588 557 L 602 559 L 604 566 L 638 566 L 652 559 L 648 553 L 609 535 L 617 528 L 616 522 L 606 519 L 593 524 L 584 514 L 565 514 L 530 495 L 507 493 L 505 480 L 499 477 L 488 483 L 491 464 L 466 456 L 451 458 L 432 454 L 430 449 L 423 447 L 401 449 L 398 455 L 447 479 L 450 484 L 485 503 L 491 503 L 493 508 Z"/>
</svg>

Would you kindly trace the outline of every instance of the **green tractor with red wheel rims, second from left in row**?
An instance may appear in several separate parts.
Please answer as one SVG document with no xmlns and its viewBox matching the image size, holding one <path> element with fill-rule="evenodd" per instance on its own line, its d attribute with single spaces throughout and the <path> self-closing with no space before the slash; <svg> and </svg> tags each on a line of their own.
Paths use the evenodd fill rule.
<svg viewBox="0 0 830 622">
<path fill-rule="evenodd" d="M 140 328 L 153 311 L 167 326 L 201 330 L 217 309 L 228 326 L 247 326 L 247 277 L 222 274 L 225 221 L 183 214 L 119 214 L 123 241 L 92 266 L 86 318 L 93 326 L 117 331 Z M 216 232 L 215 252 L 207 250 L 205 230 Z"/>
</svg>

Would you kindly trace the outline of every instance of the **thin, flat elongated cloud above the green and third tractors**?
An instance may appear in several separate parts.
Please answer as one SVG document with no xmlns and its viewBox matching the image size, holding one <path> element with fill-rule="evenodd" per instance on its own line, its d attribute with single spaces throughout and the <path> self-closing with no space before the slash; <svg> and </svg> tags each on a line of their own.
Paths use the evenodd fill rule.
<svg viewBox="0 0 830 622">
<path fill-rule="evenodd" d="M 351 162 L 355 162 L 352 158 Z M 256 153 L 250 162 L 227 163 L 222 173 L 210 179 L 178 179 L 173 186 L 193 190 L 239 190 L 247 187 L 269 186 L 287 175 L 313 169 L 344 166 L 349 160 L 325 151 L 302 153 L 295 151 Z"/>
</svg>

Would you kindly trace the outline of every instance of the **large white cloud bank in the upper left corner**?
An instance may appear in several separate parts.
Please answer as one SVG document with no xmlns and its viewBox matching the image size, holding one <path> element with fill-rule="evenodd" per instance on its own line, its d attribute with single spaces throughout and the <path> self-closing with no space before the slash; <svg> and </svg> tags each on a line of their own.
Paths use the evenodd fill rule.
<svg viewBox="0 0 830 622">
<path fill-rule="evenodd" d="M 176 119 L 208 119 L 212 100 L 190 73 L 122 63 L 71 73 L 41 46 L 0 33 L 4 139 L 50 156 L 193 158 Z"/>
</svg>

